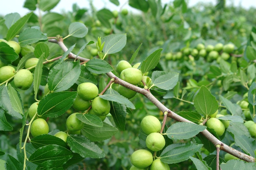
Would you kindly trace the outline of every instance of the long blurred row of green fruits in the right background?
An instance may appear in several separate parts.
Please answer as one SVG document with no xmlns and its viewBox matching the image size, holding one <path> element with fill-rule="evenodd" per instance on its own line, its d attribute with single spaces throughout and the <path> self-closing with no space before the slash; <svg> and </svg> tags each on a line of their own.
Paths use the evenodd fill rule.
<svg viewBox="0 0 256 170">
<path fill-rule="evenodd" d="M 188 56 L 193 56 L 194 59 L 198 59 L 199 57 L 207 57 L 208 61 L 217 60 L 220 62 L 220 59 L 228 60 L 230 57 L 230 53 L 233 53 L 235 46 L 233 44 L 223 45 L 222 43 L 217 43 L 215 46 L 207 45 L 205 47 L 204 44 L 197 44 L 196 48 L 185 47 L 181 49 L 180 52 L 177 53 L 166 53 L 166 60 L 179 60 L 184 57 L 184 60 L 190 59 Z"/>
</svg>

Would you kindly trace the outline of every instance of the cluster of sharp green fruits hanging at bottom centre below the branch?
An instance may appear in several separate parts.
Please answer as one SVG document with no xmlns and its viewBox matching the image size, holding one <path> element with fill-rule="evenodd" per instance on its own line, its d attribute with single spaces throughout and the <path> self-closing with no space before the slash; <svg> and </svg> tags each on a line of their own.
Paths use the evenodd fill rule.
<svg viewBox="0 0 256 170">
<path fill-rule="evenodd" d="M 161 123 L 154 116 L 146 116 L 142 119 L 140 123 L 142 131 L 148 135 L 146 138 L 146 145 L 151 151 L 157 152 L 164 148 L 165 139 L 160 132 Z M 132 167 L 130 170 L 140 170 L 145 169 L 150 166 L 151 170 L 170 170 L 167 163 L 161 161 L 161 159 L 156 158 L 153 160 L 153 155 L 150 151 L 146 149 L 139 149 L 134 151 L 131 155 Z"/>
</svg>

